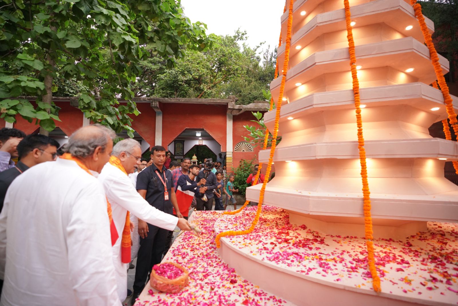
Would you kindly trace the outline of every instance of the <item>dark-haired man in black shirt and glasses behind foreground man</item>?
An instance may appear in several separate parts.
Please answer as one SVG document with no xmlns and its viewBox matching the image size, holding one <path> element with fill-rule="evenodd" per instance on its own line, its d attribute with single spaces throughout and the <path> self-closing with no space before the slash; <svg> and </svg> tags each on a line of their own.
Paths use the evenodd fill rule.
<svg viewBox="0 0 458 306">
<path fill-rule="evenodd" d="M 20 161 L 15 167 L 0 172 L 0 211 L 3 209 L 6 191 L 13 180 L 31 166 L 55 160 L 59 146 L 54 139 L 40 134 L 28 135 L 19 142 L 17 152 Z"/>
</svg>

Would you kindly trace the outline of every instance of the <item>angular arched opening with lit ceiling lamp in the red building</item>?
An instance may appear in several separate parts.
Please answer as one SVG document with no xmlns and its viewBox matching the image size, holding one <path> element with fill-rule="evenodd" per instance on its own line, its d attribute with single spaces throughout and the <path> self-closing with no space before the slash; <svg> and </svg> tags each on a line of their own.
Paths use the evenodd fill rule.
<svg viewBox="0 0 458 306">
<path fill-rule="evenodd" d="M 167 146 L 174 159 L 181 161 L 184 157 L 196 154 L 197 161 L 203 162 L 205 158 L 216 161 L 221 152 L 221 144 L 216 141 L 205 129 L 185 129 Z"/>
</svg>

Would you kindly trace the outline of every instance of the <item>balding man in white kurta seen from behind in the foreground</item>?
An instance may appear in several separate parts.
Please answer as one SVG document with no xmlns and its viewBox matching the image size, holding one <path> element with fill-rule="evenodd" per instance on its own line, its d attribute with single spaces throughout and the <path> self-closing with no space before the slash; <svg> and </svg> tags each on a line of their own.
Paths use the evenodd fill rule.
<svg viewBox="0 0 458 306">
<path fill-rule="evenodd" d="M 115 134 L 87 126 L 57 161 L 17 177 L 0 214 L 0 305 L 121 306 L 104 189 Z"/>
</svg>

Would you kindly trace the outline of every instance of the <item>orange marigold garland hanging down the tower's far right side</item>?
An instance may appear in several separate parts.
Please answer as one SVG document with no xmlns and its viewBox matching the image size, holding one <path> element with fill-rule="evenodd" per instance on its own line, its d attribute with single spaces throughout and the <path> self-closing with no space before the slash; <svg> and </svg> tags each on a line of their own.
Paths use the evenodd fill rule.
<svg viewBox="0 0 458 306">
<path fill-rule="evenodd" d="M 425 17 L 421 12 L 421 5 L 417 3 L 416 0 L 410 0 L 410 4 L 413 5 L 415 11 L 415 17 L 417 17 L 418 23 L 420 24 L 421 32 L 423 33 L 423 38 L 425 38 L 425 43 L 428 49 L 430 50 L 430 57 L 431 63 L 434 67 L 434 72 L 436 73 L 437 83 L 442 91 L 442 96 L 444 97 L 444 104 L 447 110 L 448 120 L 450 125 L 453 128 L 453 132 L 457 136 L 458 141 L 458 120 L 457 114 L 453 109 L 453 100 L 450 97 L 450 92 L 448 91 L 447 83 L 445 82 L 444 74 L 442 72 L 441 64 L 439 63 L 439 56 L 437 56 L 436 48 L 434 47 L 434 43 L 432 42 L 431 33 L 428 31 L 428 27 L 426 26 Z M 433 82 L 432 86 L 437 88 L 436 81 Z M 452 140 L 452 135 L 450 133 L 450 129 L 448 128 L 447 119 L 442 120 L 442 125 L 444 127 L 444 134 L 445 139 Z M 453 161 L 453 167 L 455 168 L 455 172 L 458 174 L 458 162 Z"/>
</svg>

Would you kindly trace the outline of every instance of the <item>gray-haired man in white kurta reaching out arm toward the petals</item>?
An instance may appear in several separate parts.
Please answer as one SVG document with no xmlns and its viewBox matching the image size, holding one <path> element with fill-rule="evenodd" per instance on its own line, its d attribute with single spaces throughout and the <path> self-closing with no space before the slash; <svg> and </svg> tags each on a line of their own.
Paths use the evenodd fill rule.
<svg viewBox="0 0 458 306">
<path fill-rule="evenodd" d="M 185 219 L 154 208 L 137 193 L 127 175 L 134 172 L 134 165 L 140 162 L 141 156 L 142 150 L 138 141 L 121 140 L 114 145 L 109 162 L 98 176 L 111 204 L 114 225 L 119 234 L 112 251 L 120 301 L 124 301 L 127 296 L 127 268 L 131 259 L 129 224 L 126 222 L 129 220 L 129 215 L 127 214 L 130 212 L 149 224 L 169 231 L 173 231 L 177 225 L 181 230 L 191 230 Z"/>
</svg>

